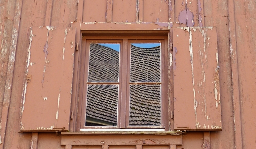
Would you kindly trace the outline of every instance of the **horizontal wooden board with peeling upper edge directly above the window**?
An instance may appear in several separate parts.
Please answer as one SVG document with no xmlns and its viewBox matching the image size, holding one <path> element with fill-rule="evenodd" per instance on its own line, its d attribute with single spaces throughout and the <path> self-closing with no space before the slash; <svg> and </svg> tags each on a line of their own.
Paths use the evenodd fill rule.
<svg viewBox="0 0 256 149">
<path fill-rule="evenodd" d="M 170 23 L 80 23 L 73 22 L 72 26 L 81 26 L 81 31 L 86 30 L 106 30 L 106 31 L 116 31 L 116 30 L 168 30 Z"/>
</svg>

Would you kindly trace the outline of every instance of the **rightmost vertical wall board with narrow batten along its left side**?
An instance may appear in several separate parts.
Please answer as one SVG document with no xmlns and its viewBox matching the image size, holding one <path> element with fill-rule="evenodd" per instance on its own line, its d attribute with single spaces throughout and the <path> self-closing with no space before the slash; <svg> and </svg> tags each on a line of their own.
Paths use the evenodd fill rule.
<svg viewBox="0 0 256 149">
<path fill-rule="evenodd" d="M 230 20 L 231 38 L 233 39 L 231 39 L 231 60 L 234 76 L 233 92 L 239 93 L 239 96 L 237 96 L 237 93 L 234 93 L 235 141 L 238 147 L 240 147 L 241 143 L 243 148 L 256 148 L 256 134 L 255 131 L 252 131 L 256 123 L 254 118 L 256 113 L 255 5 L 255 1 L 249 0 L 229 1 L 229 14 L 233 15 L 231 11 L 234 10 L 234 16 L 232 16 L 234 22 Z M 242 51 L 241 49 L 245 50 Z M 238 76 L 238 82 L 236 76 Z M 239 114 L 241 130 L 239 130 Z M 240 132 L 241 142 L 239 141 Z"/>
</svg>

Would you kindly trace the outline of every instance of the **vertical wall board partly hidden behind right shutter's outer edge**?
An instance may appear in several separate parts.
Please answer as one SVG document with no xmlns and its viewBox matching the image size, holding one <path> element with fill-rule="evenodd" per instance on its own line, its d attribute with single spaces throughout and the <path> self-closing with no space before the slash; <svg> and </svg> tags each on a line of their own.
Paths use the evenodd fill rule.
<svg viewBox="0 0 256 149">
<path fill-rule="evenodd" d="M 215 4 L 213 4 L 211 0 L 204 0 L 203 8 L 204 25 L 217 27 L 219 66 L 221 68 L 219 75 L 223 129 L 221 132 L 211 132 L 211 147 L 220 149 L 235 148 L 228 1 L 217 0 Z M 231 17 L 230 13 L 230 18 Z M 236 42 L 234 38 L 232 38 L 232 41 L 234 43 Z M 234 60 L 232 60 L 232 63 L 233 62 Z M 234 77 L 235 75 L 236 74 L 233 73 Z M 235 91 L 234 95 L 239 98 L 238 91 Z M 236 121 L 238 122 L 238 119 L 236 119 Z M 239 132 L 236 132 L 236 134 L 239 136 Z"/>
</svg>

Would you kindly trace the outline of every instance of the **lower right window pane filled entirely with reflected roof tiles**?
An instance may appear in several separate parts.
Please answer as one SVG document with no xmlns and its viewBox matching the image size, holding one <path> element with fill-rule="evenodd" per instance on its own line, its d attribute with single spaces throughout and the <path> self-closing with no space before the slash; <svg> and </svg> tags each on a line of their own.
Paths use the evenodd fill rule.
<svg viewBox="0 0 256 149">
<path fill-rule="evenodd" d="M 161 85 L 130 85 L 130 126 L 161 125 Z"/>
</svg>

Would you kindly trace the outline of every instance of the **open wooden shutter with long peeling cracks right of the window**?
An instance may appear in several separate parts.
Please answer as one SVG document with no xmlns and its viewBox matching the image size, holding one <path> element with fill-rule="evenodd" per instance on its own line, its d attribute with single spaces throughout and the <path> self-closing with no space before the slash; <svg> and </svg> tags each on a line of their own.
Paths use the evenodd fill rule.
<svg viewBox="0 0 256 149">
<path fill-rule="evenodd" d="M 216 28 L 174 27 L 173 59 L 174 129 L 221 130 Z"/>
</svg>

